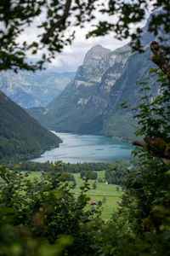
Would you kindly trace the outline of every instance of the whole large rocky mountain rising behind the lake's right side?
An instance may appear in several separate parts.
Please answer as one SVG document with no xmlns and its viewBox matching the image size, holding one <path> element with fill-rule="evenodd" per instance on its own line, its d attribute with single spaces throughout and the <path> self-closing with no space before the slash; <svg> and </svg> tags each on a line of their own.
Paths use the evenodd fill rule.
<svg viewBox="0 0 170 256">
<path fill-rule="evenodd" d="M 143 92 L 136 82 L 147 78 L 152 55 L 149 44 L 154 36 L 147 32 L 148 22 L 143 28 L 143 54 L 132 53 L 129 45 L 111 51 L 101 45 L 90 49 L 75 78 L 65 90 L 44 109 L 30 109 L 29 113 L 39 122 L 55 131 L 103 134 L 134 138 L 136 121 L 129 109 L 116 110 L 127 101 L 136 106 Z M 156 95 L 157 84 L 150 84 Z"/>
</svg>

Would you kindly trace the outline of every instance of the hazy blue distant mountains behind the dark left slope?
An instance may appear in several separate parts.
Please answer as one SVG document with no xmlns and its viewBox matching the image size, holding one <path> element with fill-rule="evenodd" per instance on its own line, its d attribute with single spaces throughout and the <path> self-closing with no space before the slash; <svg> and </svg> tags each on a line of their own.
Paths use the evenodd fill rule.
<svg viewBox="0 0 170 256">
<path fill-rule="evenodd" d="M 65 86 L 75 73 L 56 73 L 48 70 L 31 73 L 6 71 L 0 73 L 0 90 L 23 108 L 44 107 Z"/>
</svg>

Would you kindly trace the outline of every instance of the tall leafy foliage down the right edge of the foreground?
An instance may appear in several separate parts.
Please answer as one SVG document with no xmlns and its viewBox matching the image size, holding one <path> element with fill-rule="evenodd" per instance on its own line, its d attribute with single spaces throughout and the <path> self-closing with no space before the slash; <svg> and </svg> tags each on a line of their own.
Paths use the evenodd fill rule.
<svg viewBox="0 0 170 256">
<path fill-rule="evenodd" d="M 160 91 L 153 98 L 150 84 L 142 82 L 145 96 L 133 109 L 140 125 L 137 132 L 144 136 L 144 142 L 133 142 L 141 147 L 134 151 L 139 161 L 134 161 L 127 172 L 122 207 L 117 217 L 113 216 L 112 227 L 120 227 L 116 230 L 117 244 L 113 236 L 110 247 L 116 246 L 116 255 L 169 255 L 169 80 L 157 69 L 151 73 L 157 77 Z"/>
</svg>

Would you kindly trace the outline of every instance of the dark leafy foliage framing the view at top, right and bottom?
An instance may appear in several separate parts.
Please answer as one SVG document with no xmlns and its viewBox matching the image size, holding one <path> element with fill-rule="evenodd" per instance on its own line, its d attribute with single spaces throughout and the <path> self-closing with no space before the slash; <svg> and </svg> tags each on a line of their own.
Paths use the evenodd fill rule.
<svg viewBox="0 0 170 256">
<path fill-rule="evenodd" d="M 40 32 L 42 45 L 39 42 L 20 45 L 17 38 L 23 26 L 31 25 L 44 8 L 47 9 L 46 17 L 39 26 L 44 29 Z M 121 163 L 117 162 L 111 175 L 105 172 L 108 179 L 112 179 L 112 173 L 120 174 L 118 170 L 121 174 L 123 172 L 124 192 L 116 212 L 105 222 L 99 207 L 88 209 L 88 177 L 76 197 L 67 175 L 60 171 L 60 162 L 55 163 L 47 175 L 34 180 L 26 172 L 20 174 L 17 167 L 11 171 L 7 166 L 0 166 L 0 255 L 169 255 L 169 1 L 2 1 L 0 22 L 6 29 L 0 30 L 0 70 L 41 69 L 55 52 L 60 52 L 65 44 L 71 44 L 74 34 L 68 36 L 67 29 L 71 26 L 82 28 L 86 22 L 93 21 L 95 11 L 99 16 L 103 15 L 104 20 L 94 25 L 87 38 L 116 32 L 116 38 L 130 38 L 132 49 L 141 53 L 145 48 L 139 22 L 144 20 L 150 9 L 153 13 L 148 32 L 155 38 L 150 42 L 153 68 L 149 78 L 141 79 L 136 84 L 144 92 L 141 101 L 136 102 L 136 106 L 122 103 L 123 109 L 133 111 L 133 119 L 139 125 L 136 136 L 143 137 L 143 140 L 132 142 L 137 148 L 133 152 L 136 158 L 131 160 L 130 166 L 123 164 L 126 167 L 122 170 Z M 105 20 L 105 15 L 112 19 Z M 71 17 L 74 19 L 71 20 Z M 137 26 L 132 30 L 135 24 Z M 45 47 L 48 55 L 42 55 L 37 65 L 26 61 L 26 50 L 36 55 L 38 49 Z M 159 86 L 155 96 L 150 86 L 153 81 Z M 3 101 L 6 101 L 5 96 Z M 0 131 L 4 132 L 5 128 L 2 126 L 3 131 Z"/>
</svg>

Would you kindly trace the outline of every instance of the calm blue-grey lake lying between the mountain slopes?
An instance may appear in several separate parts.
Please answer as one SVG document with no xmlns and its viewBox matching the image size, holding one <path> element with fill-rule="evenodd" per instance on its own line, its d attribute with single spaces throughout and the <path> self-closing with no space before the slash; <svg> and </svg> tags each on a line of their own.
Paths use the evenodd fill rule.
<svg viewBox="0 0 170 256">
<path fill-rule="evenodd" d="M 78 135 L 72 133 L 55 132 L 63 143 L 59 148 L 47 150 L 36 162 L 54 162 L 62 160 L 64 163 L 83 162 L 112 162 L 116 159 L 128 160 L 133 146 L 116 138 L 99 135 Z"/>
</svg>

